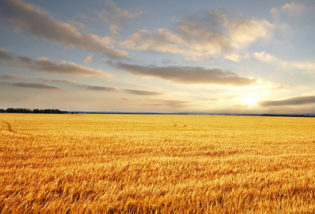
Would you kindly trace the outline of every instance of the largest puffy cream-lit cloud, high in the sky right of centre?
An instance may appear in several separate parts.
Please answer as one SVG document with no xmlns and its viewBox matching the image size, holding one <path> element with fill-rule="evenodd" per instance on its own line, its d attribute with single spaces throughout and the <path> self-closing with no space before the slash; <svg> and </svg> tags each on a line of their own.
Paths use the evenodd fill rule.
<svg viewBox="0 0 315 214">
<path fill-rule="evenodd" d="M 137 51 L 182 54 L 189 61 L 219 56 L 239 61 L 240 50 L 258 39 L 269 39 L 273 28 L 265 19 L 249 19 L 215 10 L 182 19 L 174 29 L 142 29 L 120 46 Z"/>
</svg>

